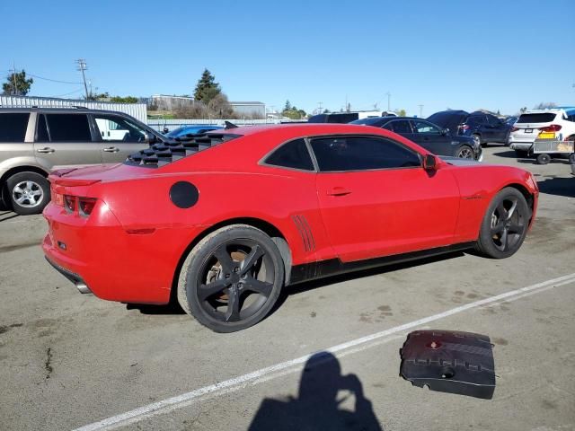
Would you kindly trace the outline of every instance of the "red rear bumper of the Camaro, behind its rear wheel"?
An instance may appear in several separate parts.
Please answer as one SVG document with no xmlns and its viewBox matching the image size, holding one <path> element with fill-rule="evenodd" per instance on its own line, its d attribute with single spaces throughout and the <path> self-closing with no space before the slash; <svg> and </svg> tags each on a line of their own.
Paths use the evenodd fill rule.
<svg viewBox="0 0 575 431">
<path fill-rule="evenodd" d="M 131 234 L 105 204 L 98 209 L 99 214 L 83 218 L 52 203 L 45 208 L 49 233 L 42 249 L 49 262 L 102 299 L 168 303 L 178 262 L 199 228 Z"/>
</svg>

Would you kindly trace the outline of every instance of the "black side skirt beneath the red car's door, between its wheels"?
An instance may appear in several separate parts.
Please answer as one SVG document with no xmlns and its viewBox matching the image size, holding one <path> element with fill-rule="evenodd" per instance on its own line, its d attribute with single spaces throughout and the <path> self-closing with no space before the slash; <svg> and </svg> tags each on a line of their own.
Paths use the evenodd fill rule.
<svg viewBox="0 0 575 431">
<path fill-rule="evenodd" d="M 353 262 L 342 262 L 340 259 L 336 258 L 305 263 L 291 268 L 291 277 L 287 284 L 295 285 L 296 283 L 303 283 L 317 278 L 337 276 L 346 272 L 385 267 L 387 265 L 429 258 L 431 256 L 451 253 L 454 251 L 464 251 L 473 248 L 474 245 L 474 241 L 461 242 L 458 244 L 447 245 L 445 247 L 438 247 L 436 249 L 411 251 L 409 253 L 394 254 L 381 258 L 357 260 Z"/>
</svg>

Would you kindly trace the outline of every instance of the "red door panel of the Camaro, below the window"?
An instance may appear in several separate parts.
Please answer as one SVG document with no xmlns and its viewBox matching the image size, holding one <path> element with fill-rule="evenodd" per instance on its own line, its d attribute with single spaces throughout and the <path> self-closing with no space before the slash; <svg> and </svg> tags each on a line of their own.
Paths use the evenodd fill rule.
<svg viewBox="0 0 575 431">
<path fill-rule="evenodd" d="M 460 198 L 448 170 L 325 172 L 316 184 L 323 222 L 342 261 L 454 241 Z"/>
</svg>

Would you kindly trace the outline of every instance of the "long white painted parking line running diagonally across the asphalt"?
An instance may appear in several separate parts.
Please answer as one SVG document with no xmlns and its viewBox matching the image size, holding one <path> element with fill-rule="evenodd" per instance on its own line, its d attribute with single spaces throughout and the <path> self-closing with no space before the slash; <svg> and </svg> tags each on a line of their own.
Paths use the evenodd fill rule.
<svg viewBox="0 0 575 431">
<path fill-rule="evenodd" d="M 448 316 L 452 316 L 460 312 L 466 312 L 468 310 L 472 310 L 473 308 L 478 308 L 483 305 L 491 305 L 492 303 L 497 303 L 503 300 L 507 302 L 515 301 L 517 299 L 526 296 L 526 294 L 528 293 L 533 295 L 535 293 L 544 292 L 545 290 L 548 290 L 553 287 L 564 286 L 571 284 L 573 282 L 575 282 L 575 273 L 563 277 L 553 278 L 551 280 L 537 283 L 532 286 L 521 287 L 519 289 L 511 290 L 504 294 L 491 296 L 489 298 L 475 301 L 473 303 L 466 303 L 459 307 L 452 308 L 451 310 L 447 310 L 446 312 L 433 314 L 432 316 L 424 317 L 417 321 L 404 323 L 403 325 L 395 326 L 394 328 L 390 328 L 388 330 L 382 330 L 380 332 L 376 332 L 375 334 L 367 335 L 366 337 L 361 337 L 359 339 L 352 339 L 346 343 L 325 348 L 323 349 L 323 351 L 330 352 L 334 355 L 340 353 L 339 356 L 343 356 L 349 353 L 355 353 L 356 351 L 365 350 L 365 348 L 371 347 L 372 345 L 381 344 L 381 343 L 373 343 L 373 341 L 375 340 L 382 341 L 382 339 L 397 334 L 398 332 L 420 328 L 421 326 L 431 321 L 438 321 L 440 319 L 445 319 Z M 361 345 L 369 345 L 369 346 L 361 346 Z M 360 346 L 365 348 L 359 348 Z M 347 350 L 353 350 L 353 352 L 345 352 L 344 354 L 344 351 Z M 168 398 L 166 400 L 157 401 L 152 404 L 140 407 L 138 409 L 133 409 L 127 411 L 126 413 L 121 413 L 119 415 L 112 416 L 111 418 L 105 418 L 98 422 L 94 422 L 93 424 L 76 428 L 75 431 L 97 431 L 104 429 L 109 430 L 112 428 L 125 426 L 131 423 L 138 422 L 144 418 L 150 418 L 153 416 L 163 414 L 173 409 L 180 409 L 181 407 L 190 405 L 190 403 L 193 401 L 199 400 L 200 398 L 205 398 L 207 395 L 209 395 L 209 398 L 214 398 L 217 397 L 218 395 L 222 395 L 230 391 L 241 389 L 242 387 L 245 387 L 249 384 L 257 384 L 269 381 L 270 378 L 274 378 L 274 376 L 279 377 L 280 375 L 289 374 L 289 371 L 295 373 L 296 371 L 298 371 L 297 366 L 305 364 L 305 362 L 312 355 L 314 354 L 297 357 L 296 359 L 291 359 L 286 362 L 261 368 L 260 370 L 248 374 L 243 374 L 234 377 L 232 379 L 226 380 L 224 382 L 211 384 L 208 386 L 204 386 L 203 388 L 196 389 L 194 391 L 182 393 L 181 395 Z"/>
</svg>

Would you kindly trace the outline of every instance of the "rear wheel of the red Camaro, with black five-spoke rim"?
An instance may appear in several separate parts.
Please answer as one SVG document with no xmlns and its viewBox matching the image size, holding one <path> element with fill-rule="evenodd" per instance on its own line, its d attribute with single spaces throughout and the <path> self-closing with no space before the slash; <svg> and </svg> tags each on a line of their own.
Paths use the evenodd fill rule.
<svg viewBox="0 0 575 431">
<path fill-rule="evenodd" d="M 210 330 L 234 332 L 263 320 L 283 285 L 284 263 L 275 242 L 260 229 L 233 224 L 209 233 L 190 251 L 178 302 Z"/>
</svg>

